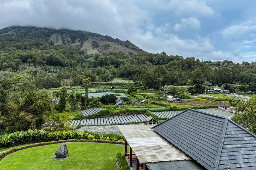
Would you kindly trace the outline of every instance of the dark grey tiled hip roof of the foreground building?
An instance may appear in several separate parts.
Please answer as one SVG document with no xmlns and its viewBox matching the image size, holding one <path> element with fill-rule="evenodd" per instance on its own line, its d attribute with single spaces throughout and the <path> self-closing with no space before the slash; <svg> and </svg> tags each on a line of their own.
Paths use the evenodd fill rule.
<svg viewBox="0 0 256 170">
<path fill-rule="evenodd" d="M 208 170 L 256 169 L 256 136 L 228 118 L 187 109 L 153 129 Z"/>
</svg>

